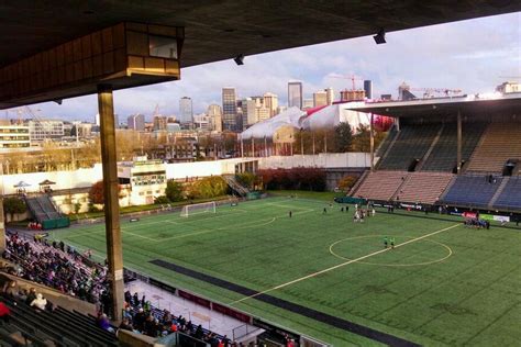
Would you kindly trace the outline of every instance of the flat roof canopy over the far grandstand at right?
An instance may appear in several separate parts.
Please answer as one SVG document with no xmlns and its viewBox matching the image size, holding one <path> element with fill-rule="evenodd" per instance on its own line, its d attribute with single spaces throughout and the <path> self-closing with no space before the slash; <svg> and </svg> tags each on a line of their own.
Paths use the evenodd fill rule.
<svg viewBox="0 0 521 347">
<path fill-rule="evenodd" d="M 521 93 L 487 93 L 456 98 L 420 99 L 365 103 L 350 108 L 353 111 L 392 117 L 435 117 L 472 114 L 521 113 Z"/>
</svg>

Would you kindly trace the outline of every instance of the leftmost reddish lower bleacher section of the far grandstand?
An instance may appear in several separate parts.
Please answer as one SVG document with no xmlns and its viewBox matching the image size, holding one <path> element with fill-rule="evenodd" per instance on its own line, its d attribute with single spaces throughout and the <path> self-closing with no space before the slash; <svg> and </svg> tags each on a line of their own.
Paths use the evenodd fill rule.
<svg viewBox="0 0 521 347">
<path fill-rule="evenodd" d="M 388 201 L 408 178 L 404 171 L 375 171 L 367 175 L 353 197 Z"/>
</svg>

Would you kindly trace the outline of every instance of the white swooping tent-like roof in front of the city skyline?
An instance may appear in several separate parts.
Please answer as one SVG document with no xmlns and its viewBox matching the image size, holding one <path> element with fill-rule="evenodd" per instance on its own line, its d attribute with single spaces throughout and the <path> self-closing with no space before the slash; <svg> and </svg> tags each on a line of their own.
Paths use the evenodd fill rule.
<svg viewBox="0 0 521 347">
<path fill-rule="evenodd" d="M 353 131 L 361 124 L 369 124 L 369 114 L 347 110 L 348 108 L 364 105 L 364 102 L 339 103 L 325 107 L 310 115 L 298 108 L 289 108 L 276 116 L 254 124 L 241 133 L 242 139 L 270 138 L 281 126 L 293 126 L 297 130 L 314 131 L 319 128 L 333 128 L 340 123 L 347 122 Z"/>
</svg>

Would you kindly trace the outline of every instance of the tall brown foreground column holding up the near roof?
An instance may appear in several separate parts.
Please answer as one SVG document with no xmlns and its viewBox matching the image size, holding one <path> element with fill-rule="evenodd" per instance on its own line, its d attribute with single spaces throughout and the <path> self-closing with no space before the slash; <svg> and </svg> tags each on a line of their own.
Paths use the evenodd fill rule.
<svg viewBox="0 0 521 347">
<path fill-rule="evenodd" d="M 98 86 L 101 163 L 103 167 L 104 223 L 107 260 L 112 299 L 112 320 L 119 322 L 124 304 L 123 253 L 121 247 L 118 161 L 115 156 L 114 107 L 111 86 Z"/>
</svg>

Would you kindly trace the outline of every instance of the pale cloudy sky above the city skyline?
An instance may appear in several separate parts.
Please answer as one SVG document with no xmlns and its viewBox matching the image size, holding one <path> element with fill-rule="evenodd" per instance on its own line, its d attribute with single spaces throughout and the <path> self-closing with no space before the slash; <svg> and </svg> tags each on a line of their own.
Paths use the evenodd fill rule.
<svg viewBox="0 0 521 347">
<path fill-rule="evenodd" d="M 223 87 L 235 87 L 239 98 L 274 92 L 286 105 L 290 80 L 302 81 L 304 98 L 332 87 L 340 99 L 340 90 L 351 88 L 352 81 L 331 77 L 339 75 L 370 79 L 375 96 L 393 98 L 403 81 L 464 93 L 490 92 L 506 80 L 521 82 L 521 12 L 391 32 L 386 40 L 376 45 L 364 36 L 246 56 L 243 66 L 230 59 L 185 68 L 179 81 L 114 91 L 115 113 L 120 122 L 133 113 L 149 120 L 156 105 L 163 115 L 178 114 L 179 99 L 190 97 L 198 114 L 221 104 Z M 363 87 L 362 80 L 355 82 Z M 68 121 L 93 122 L 98 112 L 96 96 L 31 108 L 42 117 Z"/>
</svg>

